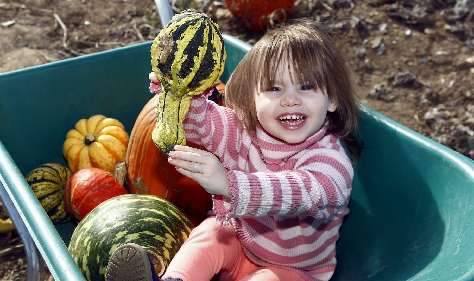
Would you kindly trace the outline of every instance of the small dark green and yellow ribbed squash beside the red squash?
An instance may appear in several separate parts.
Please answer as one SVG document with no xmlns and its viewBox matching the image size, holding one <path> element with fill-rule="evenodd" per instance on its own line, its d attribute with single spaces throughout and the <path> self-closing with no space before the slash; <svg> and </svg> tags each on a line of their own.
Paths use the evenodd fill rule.
<svg viewBox="0 0 474 281">
<path fill-rule="evenodd" d="M 46 163 L 29 172 L 26 180 L 51 222 L 70 220 L 64 210 L 63 185 L 71 177 L 71 170 L 57 163 Z"/>
</svg>

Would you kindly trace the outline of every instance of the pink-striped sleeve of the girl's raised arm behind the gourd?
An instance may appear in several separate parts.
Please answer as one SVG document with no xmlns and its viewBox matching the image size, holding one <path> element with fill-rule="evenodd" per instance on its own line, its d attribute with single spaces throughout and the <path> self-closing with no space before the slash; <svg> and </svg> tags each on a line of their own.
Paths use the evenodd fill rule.
<svg viewBox="0 0 474 281">
<path fill-rule="evenodd" d="M 224 155 L 237 159 L 241 144 L 241 129 L 237 127 L 234 111 L 208 100 L 213 87 L 194 96 L 183 121 L 186 140 L 204 146 L 219 159 Z M 151 82 L 150 91 L 161 92 L 159 83 Z"/>
</svg>

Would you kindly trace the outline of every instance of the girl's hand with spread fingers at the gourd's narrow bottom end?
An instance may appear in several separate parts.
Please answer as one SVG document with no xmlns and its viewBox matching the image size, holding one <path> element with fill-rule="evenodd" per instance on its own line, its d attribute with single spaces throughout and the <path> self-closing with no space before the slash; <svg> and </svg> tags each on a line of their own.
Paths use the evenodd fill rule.
<svg viewBox="0 0 474 281">
<path fill-rule="evenodd" d="M 174 151 L 170 152 L 168 163 L 175 165 L 176 171 L 197 181 L 207 192 L 232 197 L 229 194 L 229 171 L 214 154 L 190 146 L 176 145 Z"/>
</svg>

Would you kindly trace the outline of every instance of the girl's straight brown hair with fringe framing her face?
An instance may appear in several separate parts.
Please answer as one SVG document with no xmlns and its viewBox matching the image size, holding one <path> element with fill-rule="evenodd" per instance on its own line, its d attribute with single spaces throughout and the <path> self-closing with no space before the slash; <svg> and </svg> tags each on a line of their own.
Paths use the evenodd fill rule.
<svg viewBox="0 0 474 281">
<path fill-rule="evenodd" d="M 281 60 L 294 65 L 291 80 L 326 90 L 337 109 L 328 112 L 328 133 L 343 139 L 354 155 L 361 145 L 353 133 L 358 132 L 360 109 L 353 73 L 328 32 L 314 20 L 302 18 L 289 25 L 268 31 L 246 54 L 226 85 L 226 105 L 243 119 L 249 135 L 258 124 L 254 95 L 273 86 Z M 295 75 L 296 74 L 296 75 Z M 236 119 L 239 119 L 236 118 Z"/>
</svg>

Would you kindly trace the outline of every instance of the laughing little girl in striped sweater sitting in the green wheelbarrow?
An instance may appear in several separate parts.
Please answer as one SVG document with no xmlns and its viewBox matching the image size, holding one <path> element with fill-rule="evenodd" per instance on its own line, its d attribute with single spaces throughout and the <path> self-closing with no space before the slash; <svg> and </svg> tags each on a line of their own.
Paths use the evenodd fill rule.
<svg viewBox="0 0 474 281">
<path fill-rule="evenodd" d="M 318 24 L 298 20 L 246 54 L 227 84 L 228 107 L 208 100 L 210 90 L 184 120 L 186 138 L 209 152 L 176 146 L 168 162 L 212 194 L 215 217 L 192 230 L 164 280 L 329 280 L 354 175 L 340 138 L 358 151 L 341 53 Z M 111 260 L 127 247 L 150 268 L 137 245 Z M 146 274 L 159 280 L 153 266 Z"/>
</svg>

